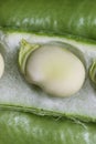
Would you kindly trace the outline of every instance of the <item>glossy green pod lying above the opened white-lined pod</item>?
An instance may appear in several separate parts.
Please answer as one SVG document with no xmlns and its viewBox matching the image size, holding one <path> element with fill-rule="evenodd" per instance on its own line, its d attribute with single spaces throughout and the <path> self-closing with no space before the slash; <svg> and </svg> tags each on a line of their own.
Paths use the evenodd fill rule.
<svg viewBox="0 0 96 144">
<path fill-rule="evenodd" d="M 96 0 L 0 0 L 0 27 L 96 40 Z"/>
</svg>

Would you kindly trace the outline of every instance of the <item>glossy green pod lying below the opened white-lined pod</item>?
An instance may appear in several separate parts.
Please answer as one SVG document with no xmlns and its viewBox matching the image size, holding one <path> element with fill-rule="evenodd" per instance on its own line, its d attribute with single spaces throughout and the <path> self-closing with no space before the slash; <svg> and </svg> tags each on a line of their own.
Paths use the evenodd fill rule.
<svg viewBox="0 0 96 144">
<path fill-rule="evenodd" d="M 0 111 L 0 144 L 95 144 L 96 124 Z"/>
</svg>

